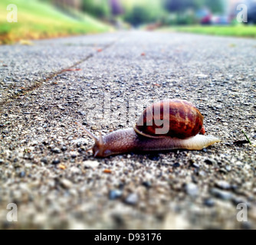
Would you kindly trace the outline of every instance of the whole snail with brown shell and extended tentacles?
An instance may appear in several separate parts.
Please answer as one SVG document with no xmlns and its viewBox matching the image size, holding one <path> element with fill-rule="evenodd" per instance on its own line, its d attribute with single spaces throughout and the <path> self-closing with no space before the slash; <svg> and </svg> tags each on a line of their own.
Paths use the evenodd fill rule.
<svg viewBox="0 0 256 245">
<path fill-rule="evenodd" d="M 201 150 L 220 140 L 203 136 L 203 116 L 187 100 L 162 100 L 148 106 L 134 128 L 119 129 L 97 138 L 84 126 L 94 146 L 94 157 L 107 157 L 126 152 L 150 152 L 172 149 Z M 90 150 L 90 149 L 88 149 Z"/>
</svg>

